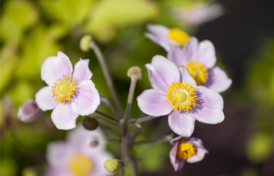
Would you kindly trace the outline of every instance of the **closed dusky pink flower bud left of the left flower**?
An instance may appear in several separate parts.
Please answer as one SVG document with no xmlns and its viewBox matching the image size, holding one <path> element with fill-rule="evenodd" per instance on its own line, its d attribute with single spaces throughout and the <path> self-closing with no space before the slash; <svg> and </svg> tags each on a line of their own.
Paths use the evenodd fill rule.
<svg viewBox="0 0 274 176">
<path fill-rule="evenodd" d="M 33 99 L 28 99 L 18 110 L 18 119 L 24 123 L 29 123 L 37 120 L 42 115 L 42 110 L 37 106 Z"/>
</svg>

